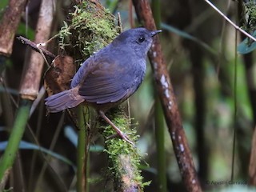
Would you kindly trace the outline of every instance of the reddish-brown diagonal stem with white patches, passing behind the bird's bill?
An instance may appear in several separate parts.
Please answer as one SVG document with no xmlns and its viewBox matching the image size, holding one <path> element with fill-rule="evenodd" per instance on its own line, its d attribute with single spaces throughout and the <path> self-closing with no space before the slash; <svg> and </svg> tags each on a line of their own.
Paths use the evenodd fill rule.
<svg viewBox="0 0 256 192">
<path fill-rule="evenodd" d="M 144 22 L 149 30 L 156 30 L 154 18 L 147 0 L 133 0 L 138 18 Z M 188 191 L 202 191 L 198 182 L 198 176 L 194 168 L 194 162 L 182 127 L 182 119 L 178 112 L 178 105 L 174 96 L 174 90 L 170 83 L 170 76 L 166 62 L 163 58 L 159 38 L 156 37 L 149 51 L 150 63 L 154 72 L 154 78 L 161 98 L 166 124 L 170 132 L 174 146 L 174 153 L 182 174 L 183 182 Z"/>
</svg>

